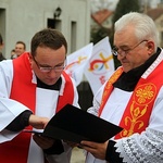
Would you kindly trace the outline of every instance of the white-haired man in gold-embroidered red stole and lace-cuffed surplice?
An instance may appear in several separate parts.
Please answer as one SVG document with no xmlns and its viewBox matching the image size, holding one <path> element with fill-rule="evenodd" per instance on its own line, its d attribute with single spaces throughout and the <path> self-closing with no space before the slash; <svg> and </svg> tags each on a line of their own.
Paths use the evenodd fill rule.
<svg viewBox="0 0 163 163">
<path fill-rule="evenodd" d="M 86 163 L 162 163 L 163 50 L 153 20 L 137 12 L 123 15 L 115 22 L 112 52 L 122 66 L 88 112 L 124 129 L 103 143 L 82 141 Z"/>
</svg>

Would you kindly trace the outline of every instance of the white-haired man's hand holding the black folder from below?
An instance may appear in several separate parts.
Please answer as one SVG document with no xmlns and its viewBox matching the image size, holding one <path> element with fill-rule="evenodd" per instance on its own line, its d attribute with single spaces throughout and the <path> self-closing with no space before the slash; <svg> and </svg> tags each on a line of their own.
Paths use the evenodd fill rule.
<svg viewBox="0 0 163 163">
<path fill-rule="evenodd" d="M 105 152 L 109 140 L 102 143 L 92 141 L 82 141 L 80 147 L 87 152 L 90 152 L 95 158 L 105 160 Z"/>
</svg>

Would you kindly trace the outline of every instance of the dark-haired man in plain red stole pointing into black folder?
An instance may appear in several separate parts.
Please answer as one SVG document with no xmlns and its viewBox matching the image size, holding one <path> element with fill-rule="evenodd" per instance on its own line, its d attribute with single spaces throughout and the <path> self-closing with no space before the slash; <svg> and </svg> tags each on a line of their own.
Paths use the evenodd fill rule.
<svg viewBox="0 0 163 163">
<path fill-rule="evenodd" d="M 65 141 L 23 131 L 40 128 L 35 122 L 41 118 L 45 126 L 67 103 L 79 108 L 74 80 L 64 72 L 66 52 L 64 36 L 45 28 L 33 37 L 30 52 L 0 63 L 0 162 L 70 163 Z"/>
</svg>

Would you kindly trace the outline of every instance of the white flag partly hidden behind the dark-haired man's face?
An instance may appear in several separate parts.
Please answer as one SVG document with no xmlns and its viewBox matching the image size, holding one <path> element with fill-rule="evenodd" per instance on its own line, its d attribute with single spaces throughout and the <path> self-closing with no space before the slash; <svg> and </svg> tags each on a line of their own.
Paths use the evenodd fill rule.
<svg viewBox="0 0 163 163">
<path fill-rule="evenodd" d="M 85 65 L 87 64 L 91 53 L 93 45 L 89 43 L 86 47 L 75 51 L 66 57 L 67 65 L 65 72 L 74 78 L 76 86 L 80 84 L 84 76 Z"/>
</svg>

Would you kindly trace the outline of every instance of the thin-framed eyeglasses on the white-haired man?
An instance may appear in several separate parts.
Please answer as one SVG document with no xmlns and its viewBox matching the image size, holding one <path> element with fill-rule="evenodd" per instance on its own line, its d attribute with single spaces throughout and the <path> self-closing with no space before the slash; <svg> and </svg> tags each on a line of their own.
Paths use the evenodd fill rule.
<svg viewBox="0 0 163 163">
<path fill-rule="evenodd" d="M 134 48 L 131 48 L 131 49 L 121 49 L 121 52 L 118 52 L 118 48 L 117 47 L 114 47 L 113 49 L 112 49 L 112 54 L 114 54 L 114 55 L 117 55 L 117 54 L 127 54 L 129 51 L 131 51 L 131 50 L 134 50 L 135 48 L 137 48 L 139 45 L 141 45 L 142 42 L 145 42 L 145 41 L 148 41 L 148 40 L 142 40 L 142 41 L 140 41 L 138 45 L 136 45 Z"/>
</svg>

